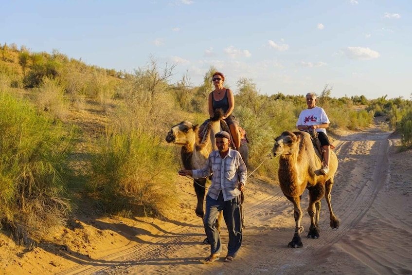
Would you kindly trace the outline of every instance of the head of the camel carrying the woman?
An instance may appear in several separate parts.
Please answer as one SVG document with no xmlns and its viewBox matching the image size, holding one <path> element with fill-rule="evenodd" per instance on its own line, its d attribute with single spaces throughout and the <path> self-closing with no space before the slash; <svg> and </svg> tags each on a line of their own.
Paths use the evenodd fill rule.
<svg viewBox="0 0 412 275">
<path fill-rule="evenodd" d="M 189 121 L 182 121 L 173 126 L 166 135 L 168 143 L 174 142 L 178 145 L 184 146 L 196 143 L 197 131 L 199 125 L 193 125 Z"/>
</svg>

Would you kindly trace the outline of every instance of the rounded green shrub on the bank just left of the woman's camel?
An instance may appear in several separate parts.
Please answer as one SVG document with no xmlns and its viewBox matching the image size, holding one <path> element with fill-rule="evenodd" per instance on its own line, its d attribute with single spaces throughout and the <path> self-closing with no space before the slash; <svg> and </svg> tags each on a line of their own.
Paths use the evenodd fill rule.
<svg viewBox="0 0 412 275">
<path fill-rule="evenodd" d="M 177 206 L 177 167 L 160 138 L 132 128 L 127 132 L 107 127 L 95 148 L 87 187 L 105 211 L 165 217 Z"/>
</svg>

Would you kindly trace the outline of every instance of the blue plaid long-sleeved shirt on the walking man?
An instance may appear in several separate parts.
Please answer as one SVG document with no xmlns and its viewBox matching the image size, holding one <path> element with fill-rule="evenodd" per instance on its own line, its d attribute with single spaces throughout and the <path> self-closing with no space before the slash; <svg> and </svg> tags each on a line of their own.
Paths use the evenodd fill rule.
<svg viewBox="0 0 412 275">
<path fill-rule="evenodd" d="M 238 151 L 229 149 L 228 154 L 222 159 L 219 150 L 215 150 L 210 153 L 202 168 L 193 170 L 193 178 L 206 178 L 213 175 L 207 194 L 217 200 L 222 191 L 226 202 L 240 195 L 237 185 L 246 184 L 247 173 L 246 165 Z"/>
</svg>

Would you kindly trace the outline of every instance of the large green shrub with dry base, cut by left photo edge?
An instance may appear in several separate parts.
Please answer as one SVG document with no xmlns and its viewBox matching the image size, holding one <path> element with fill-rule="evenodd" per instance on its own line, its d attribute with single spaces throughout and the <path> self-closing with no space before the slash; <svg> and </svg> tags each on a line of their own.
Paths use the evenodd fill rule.
<svg viewBox="0 0 412 275">
<path fill-rule="evenodd" d="M 75 128 L 0 93 L 0 225 L 14 229 L 14 237 L 41 240 L 64 223 L 70 204 L 63 178 L 75 135 Z"/>
</svg>

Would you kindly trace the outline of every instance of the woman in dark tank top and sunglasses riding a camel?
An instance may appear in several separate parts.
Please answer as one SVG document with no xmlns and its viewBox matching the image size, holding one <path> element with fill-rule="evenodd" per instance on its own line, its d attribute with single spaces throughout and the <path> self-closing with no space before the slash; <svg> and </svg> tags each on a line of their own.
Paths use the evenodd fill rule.
<svg viewBox="0 0 412 275">
<path fill-rule="evenodd" d="M 236 150 L 240 147 L 240 132 L 239 132 L 239 122 L 233 115 L 234 109 L 234 96 L 231 89 L 223 87 L 223 82 L 225 81 L 225 76 L 223 73 L 215 72 L 213 74 L 213 85 L 215 85 L 215 90 L 209 93 L 208 99 L 208 110 L 210 117 L 213 117 L 216 109 L 223 110 L 223 119 L 229 126 L 230 132 L 233 137 L 233 145 Z M 199 132 L 203 131 L 203 128 L 207 125 L 209 119 L 207 119 L 200 126 Z"/>
</svg>

